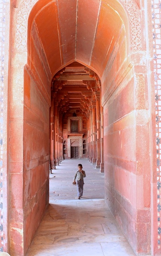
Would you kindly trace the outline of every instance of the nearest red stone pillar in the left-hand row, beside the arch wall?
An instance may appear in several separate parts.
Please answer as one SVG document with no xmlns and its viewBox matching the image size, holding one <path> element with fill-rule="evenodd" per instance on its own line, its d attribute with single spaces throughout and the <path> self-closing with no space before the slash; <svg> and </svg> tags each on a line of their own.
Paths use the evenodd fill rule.
<svg viewBox="0 0 161 256">
<path fill-rule="evenodd" d="M 54 98 L 51 97 L 50 107 L 50 169 L 55 169 L 54 163 Z"/>
</svg>

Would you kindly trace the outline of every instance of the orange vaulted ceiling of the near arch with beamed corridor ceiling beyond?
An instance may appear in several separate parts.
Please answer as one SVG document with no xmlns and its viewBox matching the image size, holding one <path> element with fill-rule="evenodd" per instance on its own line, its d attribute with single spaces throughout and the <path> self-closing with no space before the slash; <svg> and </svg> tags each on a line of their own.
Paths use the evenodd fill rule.
<svg viewBox="0 0 161 256">
<path fill-rule="evenodd" d="M 92 83 L 94 91 L 99 91 L 98 80 L 115 56 L 120 62 L 125 58 L 126 21 L 117 0 L 40 0 L 35 4 L 28 31 L 42 46 L 52 93 L 61 99 L 61 108 L 83 104 L 84 109 L 94 95 Z"/>
</svg>

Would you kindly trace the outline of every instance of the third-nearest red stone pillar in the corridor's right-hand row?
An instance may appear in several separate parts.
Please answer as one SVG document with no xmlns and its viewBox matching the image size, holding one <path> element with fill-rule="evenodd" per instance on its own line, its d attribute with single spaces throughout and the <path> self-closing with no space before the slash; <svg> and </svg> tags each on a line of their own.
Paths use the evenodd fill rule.
<svg viewBox="0 0 161 256">
<path fill-rule="evenodd" d="M 92 164 L 97 160 L 96 101 L 92 101 Z"/>
</svg>

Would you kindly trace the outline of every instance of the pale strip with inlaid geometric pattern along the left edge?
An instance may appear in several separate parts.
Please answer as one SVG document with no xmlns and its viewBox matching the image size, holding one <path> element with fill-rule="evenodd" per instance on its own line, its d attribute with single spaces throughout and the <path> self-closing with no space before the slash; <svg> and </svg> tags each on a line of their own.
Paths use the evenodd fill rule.
<svg viewBox="0 0 161 256">
<path fill-rule="evenodd" d="M 0 0 L 0 252 L 3 252 L 5 240 L 7 241 L 7 184 L 5 159 L 6 150 L 6 109 L 7 104 L 3 94 L 6 92 L 8 74 L 8 47 L 9 47 L 9 22 L 8 13 L 10 10 L 10 0 Z M 6 87 L 6 88 L 5 88 Z M 5 90 L 5 92 L 4 92 Z M 5 156 L 5 157 L 3 157 Z M 4 191 L 5 190 L 5 191 Z"/>
</svg>

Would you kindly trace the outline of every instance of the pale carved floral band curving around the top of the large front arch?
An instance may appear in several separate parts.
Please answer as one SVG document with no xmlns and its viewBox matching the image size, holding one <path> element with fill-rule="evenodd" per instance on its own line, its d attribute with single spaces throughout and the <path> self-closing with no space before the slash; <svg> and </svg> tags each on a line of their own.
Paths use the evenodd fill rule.
<svg viewBox="0 0 161 256">
<path fill-rule="evenodd" d="M 16 20 L 16 49 L 24 51 L 27 48 L 27 22 L 31 9 L 38 0 L 23 0 L 19 6 Z M 139 8 L 133 0 L 120 0 L 125 6 L 131 23 L 131 43 L 132 51 L 142 49 L 141 45 L 141 25 Z"/>
</svg>

